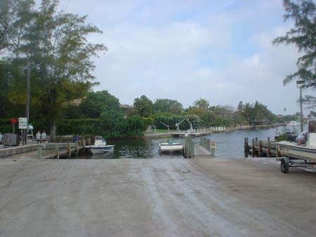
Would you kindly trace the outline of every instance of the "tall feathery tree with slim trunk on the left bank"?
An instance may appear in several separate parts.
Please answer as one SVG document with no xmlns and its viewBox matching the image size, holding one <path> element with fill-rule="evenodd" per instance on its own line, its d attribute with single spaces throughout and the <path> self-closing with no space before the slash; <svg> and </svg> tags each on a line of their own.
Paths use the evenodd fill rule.
<svg viewBox="0 0 316 237">
<path fill-rule="evenodd" d="M 17 98 L 25 96 L 21 91 L 25 91 L 26 62 L 30 62 L 32 106 L 38 107 L 50 124 L 52 140 L 65 102 L 84 97 L 94 85 L 91 57 L 106 49 L 102 44 L 88 43 L 89 34 L 101 32 L 85 23 L 86 16 L 57 12 L 57 8 L 57 0 L 42 0 L 39 9 L 34 9 L 32 0 L 9 1 L 7 15 L 13 16 L 13 21 L 6 27 L 11 61 L 21 75 L 11 82 L 11 101 L 23 101 Z"/>
</svg>

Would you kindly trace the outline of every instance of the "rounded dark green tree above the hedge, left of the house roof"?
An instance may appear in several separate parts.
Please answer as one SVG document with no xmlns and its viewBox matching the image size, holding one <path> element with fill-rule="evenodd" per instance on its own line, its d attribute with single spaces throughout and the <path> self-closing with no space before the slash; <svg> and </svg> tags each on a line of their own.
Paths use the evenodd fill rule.
<svg viewBox="0 0 316 237">
<path fill-rule="evenodd" d="M 90 92 L 80 104 L 84 118 L 99 118 L 104 111 L 119 111 L 119 99 L 107 92 L 107 90 Z"/>
</svg>

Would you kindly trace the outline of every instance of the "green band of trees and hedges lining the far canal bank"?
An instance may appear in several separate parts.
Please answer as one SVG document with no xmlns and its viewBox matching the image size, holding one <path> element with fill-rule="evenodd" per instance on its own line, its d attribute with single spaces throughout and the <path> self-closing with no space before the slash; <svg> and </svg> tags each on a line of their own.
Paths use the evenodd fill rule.
<svg viewBox="0 0 316 237">
<path fill-rule="evenodd" d="M 15 106 L 12 108 L 5 111 L 7 117 L 14 116 Z M 48 130 L 50 123 L 41 114 L 33 111 L 31 107 L 30 123 L 35 130 Z M 160 135 L 168 132 L 167 126 L 171 133 L 176 132 L 176 123 L 182 131 L 189 130 L 190 123 L 194 130 L 211 127 L 251 128 L 297 120 L 297 116 L 298 114 L 277 116 L 260 102 L 239 102 L 235 108 L 210 106 L 207 100 L 199 99 L 192 106 L 183 108 L 177 100 L 157 99 L 152 102 L 145 95 L 136 98 L 133 106 L 126 106 L 120 104 L 119 99 L 107 90 L 103 90 L 88 92 L 84 97 L 65 103 L 55 126 L 57 135 L 103 135 L 107 139 L 139 138 L 150 137 L 147 134 L 154 133 L 154 128 Z M 0 131 L 11 133 L 9 118 L 0 119 Z"/>
</svg>

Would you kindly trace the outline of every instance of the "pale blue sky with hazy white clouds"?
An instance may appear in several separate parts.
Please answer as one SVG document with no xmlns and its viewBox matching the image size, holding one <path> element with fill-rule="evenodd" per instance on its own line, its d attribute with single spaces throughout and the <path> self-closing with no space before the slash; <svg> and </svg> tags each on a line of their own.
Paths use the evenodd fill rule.
<svg viewBox="0 0 316 237">
<path fill-rule="evenodd" d="M 89 36 L 108 48 L 93 59 L 94 90 L 121 104 L 146 95 L 184 107 L 203 98 L 211 106 L 258 100 L 275 114 L 299 111 L 295 81 L 283 85 L 296 72 L 298 50 L 272 45 L 293 27 L 282 0 L 60 0 L 60 8 L 88 15 L 103 31 Z"/>
</svg>

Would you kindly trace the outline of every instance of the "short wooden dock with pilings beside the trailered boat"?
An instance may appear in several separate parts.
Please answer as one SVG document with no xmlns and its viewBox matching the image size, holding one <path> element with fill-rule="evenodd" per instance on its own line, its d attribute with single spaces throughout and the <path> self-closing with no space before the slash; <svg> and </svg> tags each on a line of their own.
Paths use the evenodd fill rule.
<svg viewBox="0 0 316 237">
<path fill-rule="evenodd" d="M 258 140 L 257 138 L 252 138 L 249 143 L 248 137 L 244 138 L 244 157 L 277 157 L 279 156 L 277 151 L 277 145 L 275 141 L 268 140 Z"/>
</svg>

